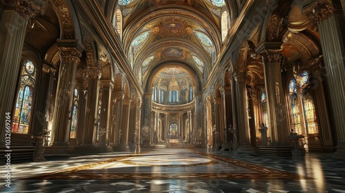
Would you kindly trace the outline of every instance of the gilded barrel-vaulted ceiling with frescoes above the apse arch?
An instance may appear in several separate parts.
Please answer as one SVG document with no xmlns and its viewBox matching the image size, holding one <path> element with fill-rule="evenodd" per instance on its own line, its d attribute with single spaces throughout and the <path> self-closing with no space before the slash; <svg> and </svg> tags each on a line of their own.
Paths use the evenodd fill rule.
<svg viewBox="0 0 345 193">
<path fill-rule="evenodd" d="M 189 65 L 201 78 L 213 68 L 221 48 L 224 0 L 122 0 L 118 4 L 124 17 L 124 51 L 139 77 L 169 61 Z"/>
</svg>

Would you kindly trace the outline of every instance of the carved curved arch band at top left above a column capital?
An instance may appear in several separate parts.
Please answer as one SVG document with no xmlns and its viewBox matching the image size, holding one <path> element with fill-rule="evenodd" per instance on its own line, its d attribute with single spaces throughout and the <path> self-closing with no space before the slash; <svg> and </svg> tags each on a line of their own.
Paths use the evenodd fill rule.
<svg viewBox="0 0 345 193">
<path fill-rule="evenodd" d="M 68 7 L 63 0 L 53 0 L 56 10 L 59 13 L 59 18 L 61 19 L 63 32 L 63 39 L 75 39 L 75 28 L 72 23 L 72 16 L 68 10 Z"/>
</svg>

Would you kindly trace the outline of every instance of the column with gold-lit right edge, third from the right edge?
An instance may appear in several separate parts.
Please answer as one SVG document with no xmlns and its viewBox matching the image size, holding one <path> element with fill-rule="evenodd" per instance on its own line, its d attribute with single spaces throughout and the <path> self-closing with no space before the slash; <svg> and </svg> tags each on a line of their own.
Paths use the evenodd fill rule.
<svg viewBox="0 0 345 193">
<path fill-rule="evenodd" d="M 237 132 L 239 135 L 238 151 L 252 151 L 254 149 L 250 145 L 246 80 L 244 79 L 244 73 L 235 73 L 234 77 L 237 93 Z"/>
</svg>

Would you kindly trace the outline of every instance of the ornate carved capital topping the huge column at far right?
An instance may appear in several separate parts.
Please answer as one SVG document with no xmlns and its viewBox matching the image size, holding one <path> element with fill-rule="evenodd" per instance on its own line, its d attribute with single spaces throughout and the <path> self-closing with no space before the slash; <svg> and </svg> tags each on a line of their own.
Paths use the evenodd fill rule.
<svg viewBox="0 0 345 193">
<path fill-rule="evenodd" d="M 306 10 L 306 16 L 311 20 L 313 30 L 317 30 L 317 24 L 333 15 L 333 1 L 319 0 L 311 6 L 311 10 Z"/>
</svg>

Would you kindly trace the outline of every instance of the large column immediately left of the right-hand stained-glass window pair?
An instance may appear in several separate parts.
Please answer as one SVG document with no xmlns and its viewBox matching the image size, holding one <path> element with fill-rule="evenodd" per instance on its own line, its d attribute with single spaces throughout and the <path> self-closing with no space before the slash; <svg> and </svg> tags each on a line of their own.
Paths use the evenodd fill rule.
<svg viewBox="0 0 345 193">
<path fill-rule="evenodd" d="M 274 43 L 277 48 L 282 43 Z M 263 44 L 262 44 L 263 45 Z M 262 46 L 259 45 L 259 46 Z M 266 45 L 267 46 L 267 45 Z M 264 63 L 266 101 L 268 112 L 268 125 L 270 130 L 270 142 L 272 145 L 288 144 L 288 130 L 286 107 L 284 106 L 284 89 L 282 85 L 282 50 L 264 50 L 262 52 Z"/>
</svg>

